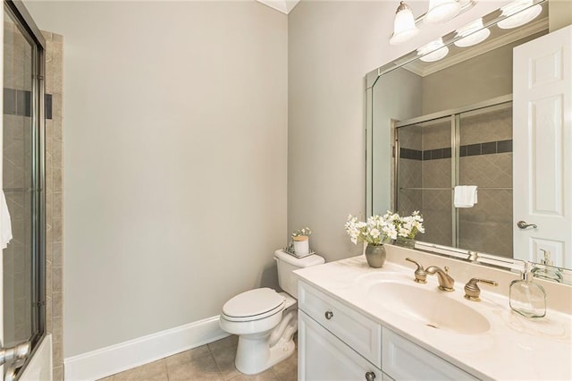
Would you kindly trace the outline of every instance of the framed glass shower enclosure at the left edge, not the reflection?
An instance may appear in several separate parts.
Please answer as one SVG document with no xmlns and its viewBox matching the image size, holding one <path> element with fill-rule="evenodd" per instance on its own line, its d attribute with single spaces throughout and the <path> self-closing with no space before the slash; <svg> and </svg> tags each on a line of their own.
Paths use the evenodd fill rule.
<svg viewBox="0 0 572 381">
<path fill-rule="evenodd" d="M 4 1 L 2 190 L 12 240 L 2 252 L 2 347 L 45 333 L 44 38 L 21 3 Z M 0 326 L 2 328 L 2 326 Z M 0 336 L 1 338 L 1 336 Z M 3 359 L 4 360 L 4 359 Z M 24 359 L 4 366 L 13 377 Z"/>
</svg>

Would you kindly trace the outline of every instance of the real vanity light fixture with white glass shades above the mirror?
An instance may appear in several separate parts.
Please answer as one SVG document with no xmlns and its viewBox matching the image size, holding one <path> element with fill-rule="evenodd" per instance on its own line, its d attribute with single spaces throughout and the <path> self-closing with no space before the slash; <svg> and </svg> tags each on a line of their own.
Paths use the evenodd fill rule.
<svg viewBox="0 0 572 381">
<path fill-rule="evenodd" d="M 435 24 L 450 21 L 460 13 L 471 9 L 477 0 L 430 0 L 429 10 L 415 18 L 408 4 L 401 1 L 395 13 L 391 45 L 399 45 L 408 41 L 418 32 L 418 26 L 426 22 Z"/>
</svg>

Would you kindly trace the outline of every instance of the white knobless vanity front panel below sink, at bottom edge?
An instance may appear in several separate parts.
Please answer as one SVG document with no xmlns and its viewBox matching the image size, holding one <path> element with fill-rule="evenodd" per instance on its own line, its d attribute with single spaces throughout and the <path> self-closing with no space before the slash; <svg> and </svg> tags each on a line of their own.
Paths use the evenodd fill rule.
<svg viewBox="0 0 572 381">
<path fill-rule="evenodd" d="M 476 380 L 399 334 L 383 327 L 383 372 L 396 380 Z"/>
</svg>

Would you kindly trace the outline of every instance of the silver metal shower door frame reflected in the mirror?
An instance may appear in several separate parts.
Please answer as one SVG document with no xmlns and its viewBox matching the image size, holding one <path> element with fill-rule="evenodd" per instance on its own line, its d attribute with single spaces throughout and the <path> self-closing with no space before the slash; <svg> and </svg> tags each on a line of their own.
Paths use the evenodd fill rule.
<svg viewBox="0 0 572 381">
<path fill-rule="evenodd" d="M 400 140 L 399 140 L 399 130 L 400 128 L 407 127 L 413 124 L 432 122 L 438 119 L 445 120 L 450 117 L 450 143 L 451 143 L 451 179 L 450 188 L 418 188 L 416 190 L 450 190 L 451 191 L 451 246 L 458 248 L 459 245 L 459 211 L 457 207 L 453 205 L 453 191 L 456 185 L 459 185 L 458 179 L 460 178 L 460 117 L 461 114 L 475 112 L 484 108 L 492 106 L 504 106 L 512 102 L 512 94 L 494 97 L 487 99 L 483 102 L 479 102 L 469 106 L 458 107 L 450 110 L 439 111 L 433 114 L 427 114 L 422 116 L 417 116 L 404 121 L 394 121 L 392 124 L 392 134 L 393 141 L 395 145 L 394 154 L 394 189 L 393 189 L 393 210 L 399 212 L 397 207 L 399 204 L 400 197 Z"/>
</svg>

